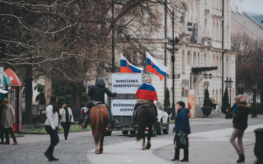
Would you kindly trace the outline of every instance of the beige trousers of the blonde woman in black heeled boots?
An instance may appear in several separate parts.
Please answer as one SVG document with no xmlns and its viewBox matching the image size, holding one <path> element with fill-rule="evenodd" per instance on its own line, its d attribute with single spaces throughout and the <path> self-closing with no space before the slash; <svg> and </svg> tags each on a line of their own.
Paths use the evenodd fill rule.
<svg viewBox="0 0 263 164">
<path fill-rule="evenodd" d="M 244 155 L 244 146 L 243 146 L 243 134 L 245 129 L 237 129 L 234 128 L 234 131 L 232 132 L 232 135 L 230 137 L 230 142 L 233 145 L 233 147 L 236 149 L 238 155 Z M 238 143 L 235 142 L 236 137 L 238 138 Z"/>
</svg>

